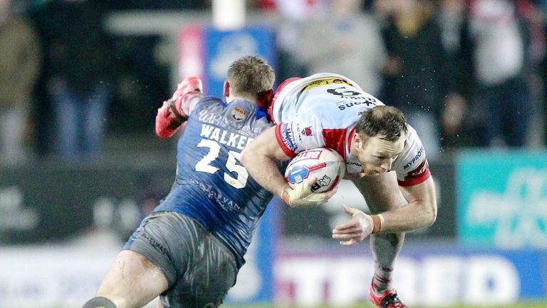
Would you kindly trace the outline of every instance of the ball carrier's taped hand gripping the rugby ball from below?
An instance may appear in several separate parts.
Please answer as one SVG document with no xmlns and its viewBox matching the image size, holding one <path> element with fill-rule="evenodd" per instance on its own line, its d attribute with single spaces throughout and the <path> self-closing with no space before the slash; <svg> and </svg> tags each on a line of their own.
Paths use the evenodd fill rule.
<svg viewBox="0 0 547 308">
<path fill-rule="evenodd" d="M 281 193 L 283 202 L 291 207 L 312 207 L 327 202 L 337 191 L 338 186 L 325 193 L 313 193 L 311 187 L 316 183 L 316 178 L 307 178 L 295 188 L 286 188 Z"/>
</svg>

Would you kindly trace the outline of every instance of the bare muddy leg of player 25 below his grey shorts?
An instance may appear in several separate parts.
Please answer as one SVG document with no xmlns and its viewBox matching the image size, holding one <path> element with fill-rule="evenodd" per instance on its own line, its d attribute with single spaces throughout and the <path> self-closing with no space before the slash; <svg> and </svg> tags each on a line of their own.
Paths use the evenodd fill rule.
<svg viewBox="0 0 547 308">
<path fill-rule="evenodd" d="M 122 250 L 110 266 L 97 296 L 107 297 L 118 308 L 142 307 L 167 289 L 163 272 L 146 257 Z"/>
</svg>

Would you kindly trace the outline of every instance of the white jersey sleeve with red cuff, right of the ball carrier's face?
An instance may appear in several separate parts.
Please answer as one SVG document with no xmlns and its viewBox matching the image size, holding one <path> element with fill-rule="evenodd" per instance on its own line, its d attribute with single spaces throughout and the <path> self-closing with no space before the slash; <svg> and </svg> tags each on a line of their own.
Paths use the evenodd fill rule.
<svg viewBox="0 0 547 308">
<path fill-rule="evenodd" d="M 394 169 L 400 186 L 418 185 L 431 177 L 422 140 L 410 126 L 405 148 L 395 160 Z"/>
</svg>

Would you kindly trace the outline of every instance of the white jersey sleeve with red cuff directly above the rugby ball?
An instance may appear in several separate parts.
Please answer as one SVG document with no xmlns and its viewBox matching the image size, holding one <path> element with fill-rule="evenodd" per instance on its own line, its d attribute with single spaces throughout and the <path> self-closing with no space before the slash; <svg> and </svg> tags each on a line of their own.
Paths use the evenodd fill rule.
<svg viewBox="0 0 547 308">
<path fill-rule="evenodd" d="M 277 124 L 276 140 L 290 158 L 303 150 L 325 145 L 321 122 L 309 116 L 296 116 L 291 121 Z"/>
</svg>

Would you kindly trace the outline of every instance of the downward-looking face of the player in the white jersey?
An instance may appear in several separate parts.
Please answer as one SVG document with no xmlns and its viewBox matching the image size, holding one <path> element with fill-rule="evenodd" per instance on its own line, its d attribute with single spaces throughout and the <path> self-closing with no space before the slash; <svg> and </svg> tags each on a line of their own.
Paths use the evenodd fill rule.
<svg viewBox="0 0 547 308">
<path fill-rule="evenodd" d="M 382 139 L 382 135 L 370 137 L 355 148 L 357 158 L 366 175 L 380 175 L 391 171 L 393 162 L 405 146 L 405 134 L 395 141 Z"/>
</svg>

